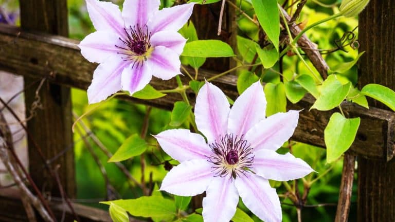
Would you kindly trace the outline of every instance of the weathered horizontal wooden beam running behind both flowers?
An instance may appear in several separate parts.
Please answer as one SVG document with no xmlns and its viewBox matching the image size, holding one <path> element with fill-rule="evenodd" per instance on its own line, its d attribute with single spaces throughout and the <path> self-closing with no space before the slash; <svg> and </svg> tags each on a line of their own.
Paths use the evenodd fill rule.
<svg viewBox="0 0 395 222">
<path fill-rule="evenodd" d="M 16 74 L 23 73 L 33 78 L 48 78 L 57 84 L 86 89 L 92 80 L 97 64 L 86 61 L 77 46 L 79 42 L 61 36 L 25 32 L 19 28 L 0 25 L 0 69 Z M 218 73 L 201 70 L 200 76 L 210 78 Z M 183 78 L 187 83 L 188 79 Z M 227 75 L 213 81 L 230 98 L 236 98 L 237 77 Z M 157 89 L 171 89 L 177 86 L 174 80 L 153 79 Z M 188 94 L 194 100 L 194 94 Z M 160 108 L 171 109 L 175 101 L 181 100 L 177 94 L 155 100 L 135 102 Z M 314 98 L 307 95 L 297 104 L 288 104 L 289 109 L 302 110 L 299 125 L 292 139 L 316 146 L 325 147 L 324 129 L 335 110 L 309 112 Z M 350 117 L 361 117 L 361 126 L 351 151 L 372 159 L 390 160 L 395 155 L 395 114 L 387 110 L 371 107 L 363 108 L 344 102 L 342 107 Z"/>
</svg>

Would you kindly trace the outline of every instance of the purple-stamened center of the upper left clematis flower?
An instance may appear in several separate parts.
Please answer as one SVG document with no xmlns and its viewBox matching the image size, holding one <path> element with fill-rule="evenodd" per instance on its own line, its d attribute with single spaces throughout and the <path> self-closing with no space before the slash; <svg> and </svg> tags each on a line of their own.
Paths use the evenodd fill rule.
<svg viewBox="0 0 395 222">
<path fill-rule="evenodd" d="M 151 32 L 148 31 L 147 25 L 137 28 L 130 26 L 129 29 L 123 29 L 126 33 L 124 39 L 119 38 L 123 43 L 122 46 L 115 45 L 115 47 L 122 49 L 119 54 L 125 55 L 122 57 L 124 61 L 133 61 L 134 63 L 142 63 L 150 57 L 153 48 L 151 48 Z"/>
</svg>

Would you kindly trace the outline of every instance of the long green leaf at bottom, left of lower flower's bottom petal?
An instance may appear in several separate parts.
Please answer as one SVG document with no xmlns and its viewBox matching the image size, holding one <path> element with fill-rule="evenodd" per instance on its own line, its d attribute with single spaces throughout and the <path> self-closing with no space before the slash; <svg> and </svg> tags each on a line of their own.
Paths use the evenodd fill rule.
<svg viewBox="0 0 395 222">
<path fill-rule="evenodd" d="M 111 203 L 125 209 L 133 216 L 159 217 L 163 220 L 169 220 L 175 216 L 176 212 L 174 201 L 161 196 L 143 196 L 137 199 L 101 202 L 101 204 L 106 205 L 111 205 Z"/>
</svg>

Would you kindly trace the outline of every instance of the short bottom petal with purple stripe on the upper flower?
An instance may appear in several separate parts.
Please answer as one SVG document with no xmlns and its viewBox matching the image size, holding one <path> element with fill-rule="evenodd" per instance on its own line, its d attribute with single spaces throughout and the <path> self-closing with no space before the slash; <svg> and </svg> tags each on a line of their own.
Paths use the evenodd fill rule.
<svg viewBox="0 0 395 222">
<path fill-rule="evenodd" d="M 147 63 L 130 64 L 122 72 L 122 90 L 132 95 L 144 88 L 152 79 L 152 70 Z"/>
</svg>

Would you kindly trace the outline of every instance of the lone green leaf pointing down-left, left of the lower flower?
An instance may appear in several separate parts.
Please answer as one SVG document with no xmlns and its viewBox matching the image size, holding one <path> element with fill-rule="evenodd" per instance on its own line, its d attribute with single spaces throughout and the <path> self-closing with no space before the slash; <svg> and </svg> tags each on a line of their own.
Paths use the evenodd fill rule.
<svg viewBox="0 0 395 222">
<path fill-rule="evenodd" d="M 109 162 L 119 162 L 139 156 L 147 150 L 147 146 L 145 140 L 141 139 L 138 134 L 133 134 L 122 143 L 114 156 L 109 159 Z"/>
</svg>

